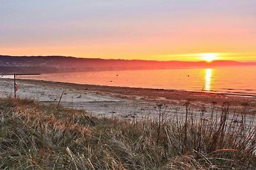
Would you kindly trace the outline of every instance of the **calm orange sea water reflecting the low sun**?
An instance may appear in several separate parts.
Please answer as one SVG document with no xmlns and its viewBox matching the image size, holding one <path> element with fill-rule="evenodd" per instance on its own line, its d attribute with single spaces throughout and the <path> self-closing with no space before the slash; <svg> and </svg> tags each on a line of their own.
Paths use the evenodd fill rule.
<svg viewBox="0 0 256 170">
<path fill-rule="evenodd" d="M 35 80 L 69 83 L 176 89 L 204 92 L 228 92 L 256 95 L 256 67 L 214 69 L 159 69 L 129 71 L 88 71 L 19 76 Z"/>
</svg>

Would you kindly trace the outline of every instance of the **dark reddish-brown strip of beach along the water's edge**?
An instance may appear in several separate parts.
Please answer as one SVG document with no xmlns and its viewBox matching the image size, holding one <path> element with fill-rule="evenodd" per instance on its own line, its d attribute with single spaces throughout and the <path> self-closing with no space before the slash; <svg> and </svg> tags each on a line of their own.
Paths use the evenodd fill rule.
<svg viewBox="0 0 256 170">
<path fill-rule="evenodd" d="M 0 78 L 0 80 L 3 80 Z M 4 79 L 12 81 L 12 79 Z M 65 87 L 78 90 L 89 90 L 98 92 L 102 95 L 112 94 L 121 99 L 140 99 L 144 101 L 157 101 L 163 104 L 180 103 L 180 101 L 189 101 L 202 104 L 216 103 L 221 105 L 223 103 L 230 103 L 231 106 L 243 106 L 244 103 L 252 108 L 256 108 L 256 97 L 250 94 L 228 94 L 215 92 L 197 92 L 187 90 L 165 90 L 165 89 L 148 89 L 138 87 L 114 87 L 106 85 L 87 85 L 78 83 L 66 83 L 60 81 L 45 81 L 45 80 L 28 80 L 17 79 L 22 83 L 34 83 L 45 85 L 49 87 Z"/>
</svg>

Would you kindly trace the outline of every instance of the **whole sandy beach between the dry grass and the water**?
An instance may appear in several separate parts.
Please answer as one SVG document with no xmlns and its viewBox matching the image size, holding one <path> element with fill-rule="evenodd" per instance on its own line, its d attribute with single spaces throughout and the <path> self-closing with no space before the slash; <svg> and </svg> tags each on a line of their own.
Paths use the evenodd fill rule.
<svg viewBox="0 0 256 170">
<path fill-rule="evenodd" d="M 188 92 L 163 89 L 140 89 L 129 87 L 107 87 L 100 85 L 80 85 L 40 80 L 17 80 L 20 98 L 36 99 L 40 102 L 61 104 L 70 108 L 83 109 L 102 117 L 140 118 L 156 117 L 157 104 L 165 104 L 167 115 L 184 112 L 184 103 L 191 103 L 193 111 L 212 112 L 216 103 L 216 113 L 221 105 L 228 102 L 233 110 L 243 110 L 247 105 L 250 113 L 255 113 L 256 99 L 252 96 L 213 94 L 208 92 Z M 0 97 L 13 96 L 13 80 L 0 79 Z M 179 110 L 179 111 L 178 111 Z M 182 117 L 182 115 L 180 115 Z"/>
</svg>

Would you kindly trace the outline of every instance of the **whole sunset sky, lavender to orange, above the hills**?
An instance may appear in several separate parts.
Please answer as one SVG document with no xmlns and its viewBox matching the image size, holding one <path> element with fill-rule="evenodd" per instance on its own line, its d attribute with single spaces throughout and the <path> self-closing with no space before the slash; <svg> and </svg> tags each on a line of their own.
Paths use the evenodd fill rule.
<svg viewBox="0 0 256 170">
<path fill-rule="evenodd" d="M 256 61 L 255 8 L 255 0 L 0 0 L 0 54 Z"/>
</svg>

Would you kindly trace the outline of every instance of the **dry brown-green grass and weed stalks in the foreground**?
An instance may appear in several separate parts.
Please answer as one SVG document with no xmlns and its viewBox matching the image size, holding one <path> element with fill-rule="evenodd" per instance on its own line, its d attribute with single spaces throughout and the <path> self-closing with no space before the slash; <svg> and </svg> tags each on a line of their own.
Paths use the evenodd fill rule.
<svg viewBox="0 0 256 170">
<path fill-rule="evenodd" d="M 159 104 L 158 120 L 129 121 L 0 99 L 0 169 L 256 169 L 256 130 L 244 115 L 228 120 L 225 103 L 206 120 L 185 107 L 182 119 L 165 119 Z"/>
</svg>

